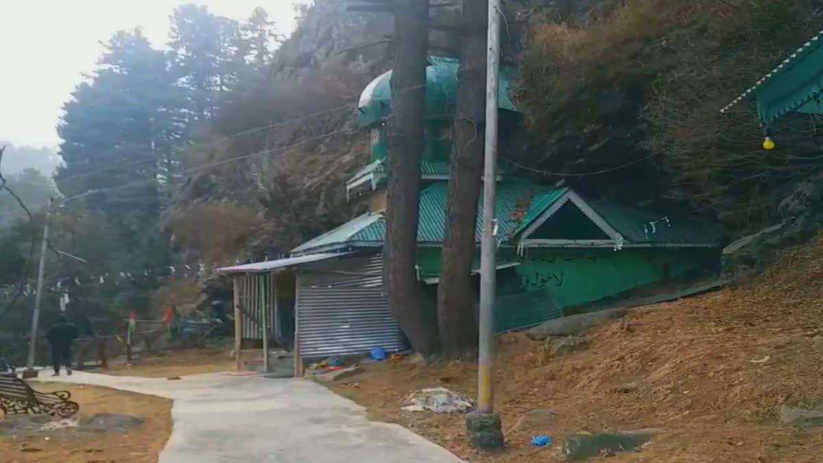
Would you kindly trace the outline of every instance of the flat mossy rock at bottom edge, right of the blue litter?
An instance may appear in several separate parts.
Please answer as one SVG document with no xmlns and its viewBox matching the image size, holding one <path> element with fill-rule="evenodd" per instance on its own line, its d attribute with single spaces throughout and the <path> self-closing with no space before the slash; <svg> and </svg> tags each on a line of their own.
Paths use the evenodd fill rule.
<svg viewBox="0 0 823 463">
<path fill-rule="evenodd" d="M 640 429 L 623 433 L 573 434 L 565 439 L 561 452 L 568 460 L 579 461 L 604 453 L 638 451 L 660 432 L 659 429 Z"/>
</svg>

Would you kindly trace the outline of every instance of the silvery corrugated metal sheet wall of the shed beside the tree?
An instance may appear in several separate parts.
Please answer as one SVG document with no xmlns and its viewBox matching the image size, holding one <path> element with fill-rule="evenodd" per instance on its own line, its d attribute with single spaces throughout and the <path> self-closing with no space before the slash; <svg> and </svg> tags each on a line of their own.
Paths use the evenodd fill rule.
<svg viewBox="0 0 823 463">
<path fill-rule="evenodd" d="M 323 357 L 405 347 L 382 286 L 383 257 L 371 255 L 306 267 L 298 275 L 300 356 Z"/>
</svg>

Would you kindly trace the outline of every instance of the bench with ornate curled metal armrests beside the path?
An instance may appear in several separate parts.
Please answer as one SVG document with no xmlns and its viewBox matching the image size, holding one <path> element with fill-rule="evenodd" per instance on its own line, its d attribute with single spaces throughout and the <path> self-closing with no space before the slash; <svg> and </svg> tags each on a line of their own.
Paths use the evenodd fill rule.
<svg viewBox="0 0 823 463">
<path fill-rule="evenodd" d="M 0 409 L 3 414 L 49 414 L 68 418 L 77 413 L 80 405 L 69 400 L 69 391 L 35 391 L 26 381 L 0 378 Z"/>
</svg>

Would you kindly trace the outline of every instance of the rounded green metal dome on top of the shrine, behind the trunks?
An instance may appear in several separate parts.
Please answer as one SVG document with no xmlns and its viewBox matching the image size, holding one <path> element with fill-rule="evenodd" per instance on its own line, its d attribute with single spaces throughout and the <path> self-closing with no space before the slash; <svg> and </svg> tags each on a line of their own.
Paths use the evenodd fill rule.
<svg viewBox="0 0 823 463">
<path fill-rule="evenodd" d="M 429 57 L 429 66 L 425 68 L 425 113 L 427 117 L 440 118 L 451 116 L 458 94 L 458 58 L 439 56 Z M 357 109 L 360 112 L 360 124 L 372 125 L 384 119 L 391 112 L 392 72 L 384 72 L 375 78 L 360 95 Z M 509 97 L 509 72 L 500 72 L 500 109 L 517 111 Z"/>
</svg>

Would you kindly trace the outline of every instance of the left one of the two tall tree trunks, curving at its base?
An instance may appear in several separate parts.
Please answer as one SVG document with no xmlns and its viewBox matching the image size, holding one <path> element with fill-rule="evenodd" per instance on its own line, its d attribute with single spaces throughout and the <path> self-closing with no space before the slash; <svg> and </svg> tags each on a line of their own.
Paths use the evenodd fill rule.
<svg viewBox="0 0 823 463">
<path fill-rule="evenodd" d="M 388 119 L 388 198 L 384 285 L 388 306 L 412 347 L 435 350 L 437 322 L 417 281 L 416 247 L 424 147 L 429 0 L 394 3 L 395 63 Z"/>
</svg>

